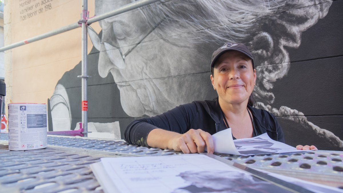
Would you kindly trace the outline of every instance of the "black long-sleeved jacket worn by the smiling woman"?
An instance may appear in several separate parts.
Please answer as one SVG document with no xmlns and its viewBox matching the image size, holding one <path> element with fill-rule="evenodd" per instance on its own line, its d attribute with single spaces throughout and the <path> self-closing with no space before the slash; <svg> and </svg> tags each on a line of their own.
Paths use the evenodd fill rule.
<svg viewBox="0 0 343 193">
<path fill-rule="evenodd" d="M 285 143 L 280 124 L 274 115 L 265 110 L 248 105 L 255 124 L 256 135 L 267 133 L 275 141 Z M 125 129 L 124 139 L 133 145 L 147 146 L 146 138 L 154 128 L 177 133 L 186 133 L 189 129 L 202 129 L 211 135 L 226 129 L 223 113 L 217 99 L 213 101 L 193 101 L 175 107 L 161 115 L 141 118 L 131 122 Z"/>
</svg>

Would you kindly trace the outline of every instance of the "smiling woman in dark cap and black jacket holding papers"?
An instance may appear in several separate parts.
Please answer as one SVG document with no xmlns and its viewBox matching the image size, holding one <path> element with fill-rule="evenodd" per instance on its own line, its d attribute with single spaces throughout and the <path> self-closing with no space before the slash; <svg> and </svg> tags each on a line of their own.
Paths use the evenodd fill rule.
<svg viewBox="0 0 343 193">
<path fill-rule="evenodd" d="M 212 134 L 228 127 L 234 139 L 267 133 L 284 143 L 281 126 L 265 110 L 253 107 L 256 84 L 253 57 L 244 44 L 225 43 L 212 54 L 211 81 L 218 98 L 193 101 L 151 118 L 135 120 L 125 130 L 129 144 L 174 149 L 184 153 L 213 153 Z M 297 146 L 297 149 L 316 149 Z"/>
</svg>

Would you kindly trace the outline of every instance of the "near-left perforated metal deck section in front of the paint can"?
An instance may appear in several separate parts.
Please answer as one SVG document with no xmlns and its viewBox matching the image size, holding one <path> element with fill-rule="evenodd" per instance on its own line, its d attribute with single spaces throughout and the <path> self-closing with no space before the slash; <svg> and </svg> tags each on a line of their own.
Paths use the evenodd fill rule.
<svg viewBox="0 0 343 193">
<path fill-rule="evenodd" d="M 99 157 L 0 145 L 0 192 L 102 192 L 89 164 Z"/>
</svg>

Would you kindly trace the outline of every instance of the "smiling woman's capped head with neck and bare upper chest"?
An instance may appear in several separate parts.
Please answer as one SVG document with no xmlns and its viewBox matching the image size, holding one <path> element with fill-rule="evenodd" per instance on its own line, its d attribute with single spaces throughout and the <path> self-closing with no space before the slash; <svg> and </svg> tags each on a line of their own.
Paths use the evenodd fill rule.
<svg viewBox="0 0 343 193">
<path fill-rule="evenodd" d="M 214 53 L 215 58 L 211 64 L 212 85 L 218 93 L 218 102 L 225 115 L 226 126 L 232 127 L 233 136 L 237 138 L 253 137 L 253 131 L 256 129 L 252 127 L 252 120 L 250 122 L 249 109 L 247 108 L 250 116 L 245 113 L 246 116 L 243 118 L 237 116 L 237 113 L 241 112 L 235 112 L 234 109 L 242 109 L 241 105 L 243 105 L 243 109 L 246 104 L 254 105 L 252 91 L 256 82 L 256 69 L 252 65 L 252 56 L 250 58 L 237 50 L 227 51 L 225 48 L 228 46 L 233 45 L 224 45 L 218 49 L 221 52 Z M 243 45 L 233 47 L 237 46 L 245 48 Z M 250 53 L 249 50 L 246 53 Z"/>
</svg>

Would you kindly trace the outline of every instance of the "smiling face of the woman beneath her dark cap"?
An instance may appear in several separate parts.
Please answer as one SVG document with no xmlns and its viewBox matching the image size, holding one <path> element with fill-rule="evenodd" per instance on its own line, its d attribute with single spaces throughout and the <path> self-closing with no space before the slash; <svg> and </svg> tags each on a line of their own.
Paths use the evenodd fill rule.
<svg viewBox="0 0 343 193">
<path fill-rule="evenodd" d="M 211 81 L 220 101 L 248 103 L 256 81 L 256 70 L 245 54 L 230 50 L 217 59 Z"/>
</svg>

